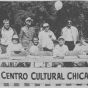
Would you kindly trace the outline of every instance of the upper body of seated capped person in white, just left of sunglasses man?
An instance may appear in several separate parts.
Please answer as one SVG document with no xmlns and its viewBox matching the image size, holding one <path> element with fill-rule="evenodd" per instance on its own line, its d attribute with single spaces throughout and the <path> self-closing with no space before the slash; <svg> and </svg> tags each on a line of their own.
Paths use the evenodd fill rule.
<svg viewBox="0 0 88 88">
<path fill-rule="evenodd" d="M 60 36 L 58 38 L 58 43 L 59 44 L 57 44 L 53 50 L 53 56 L 54 57 L 65 56 L 65 53 L 67 51 L 69 51 L 69 49 L 68 49 L 67 45 L 65 45 L 65 39 L 63 36 Z"/>
</svg>

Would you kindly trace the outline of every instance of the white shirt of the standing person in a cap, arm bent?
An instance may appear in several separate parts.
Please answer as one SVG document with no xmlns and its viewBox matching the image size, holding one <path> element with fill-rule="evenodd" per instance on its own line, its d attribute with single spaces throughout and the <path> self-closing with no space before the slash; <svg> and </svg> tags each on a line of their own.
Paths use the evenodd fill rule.
<svg viewBox="0 0 88 88">
<path fill-rule="evenodd" d="M 50 38 L 49 36 L 52 36 L 52 38 Z M 45 31 L 41 31 L 39 33 L 39 43 L 42 44 L 42 47 L 46 47 L 48 49 L 53 49 L 54 47 L 54 44 L 53 44 L 53 41 L 52 39 L 56 39 L 54 33 L 52 31 L 48 31 L 48 32 L 45 32 Z"/>
</svg>

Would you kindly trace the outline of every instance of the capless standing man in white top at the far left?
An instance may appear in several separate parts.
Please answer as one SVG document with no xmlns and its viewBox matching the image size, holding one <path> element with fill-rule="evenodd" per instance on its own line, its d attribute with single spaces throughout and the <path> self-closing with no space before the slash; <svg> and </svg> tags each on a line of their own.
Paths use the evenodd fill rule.
<svg viewBox="0 0 88 88">
<path fill-rule="evenodd" d="M 13 35 L 17 34 L 16 31 L 10 27 L 10 21 L 8 19 L 3 20 L 3 24 L 3 27 L 0 29 L 2 54 L 6 53 L 6 48 L 11 42 Z"/>
</svg>

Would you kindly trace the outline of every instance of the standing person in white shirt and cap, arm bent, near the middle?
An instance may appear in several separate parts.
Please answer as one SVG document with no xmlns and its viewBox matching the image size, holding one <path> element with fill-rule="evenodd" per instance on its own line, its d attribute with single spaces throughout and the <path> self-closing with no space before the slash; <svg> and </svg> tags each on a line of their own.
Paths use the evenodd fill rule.
<svg viewBox="0 0 88 88">
<path fill-rule="evenodd" d="M 52 51 L 54 44 L 53 40 L 56 40 L 56 36 L 50 30 L 49 24 L 43 24 L 43 31 L 39 33 L 39 44 L 42 45 L 44 51 Z"/>
</svg>

